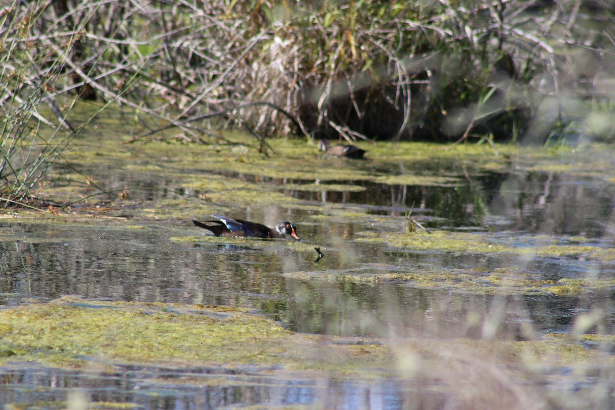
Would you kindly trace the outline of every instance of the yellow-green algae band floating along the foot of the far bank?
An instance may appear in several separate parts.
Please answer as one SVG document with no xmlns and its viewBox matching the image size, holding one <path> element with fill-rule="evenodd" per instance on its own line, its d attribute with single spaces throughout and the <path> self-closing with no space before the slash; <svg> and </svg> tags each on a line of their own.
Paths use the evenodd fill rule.
<svg viewBox="0 0 615 410">
<path fill-rule="evenodd" d="M 105 188 L 100 186 L 102 177 L 84 176 L 71 169 L 85 169 L 85 175 L 87 170 L 113 170 L 120 175 L 156 175 L 156 178 L 164 179 L 164 189 L 199 191 L 200 206 L 208 207 L 209 204 L 208 213 L 220 213 L 224 208 L 266 207 L 272 203 L 293 209 L 313 207 L 301 203 L 288 191 L 363 191 L 364 187 L 346 184 L 346 181 L 443 187 L 466 184 L 464 178 L 457 176 L 458 170 L 451 170 L 453 160 L 454 169 L 464 169 L 466 178 L 483 170 L 550 170 L 578 175 L 578 170 L 583 169 L 589 175 L 608 179 L 613 169 L 609 160 L 612 148 L 598 144 L 595 146 L 600 152 L 596 154 L 592 147 L 573 151 L 514 145 L 497 145 L 494 149 L 486 144 L 359 142 L 357 145 L 368 151 L 368 159 L 352 161 L 323 157 L 314 144 L 299 139 L 269 141 L 276 152 L 264 157 L 247 148 L 255 145 L 252 137 L 239 133 L 229 134 L 237 144 L 225 147 L 146 139 L 127 144 L 130 136 L 116 133 L 113 138 L 101 138 L 101 132 L 90 130 L 84 133 L 79 149 L 63 154 L 71 167 L 50 173 L 47 178 L 47 181 L 58 178 L 59 184 L 47 184 L 38 194 L 68 201 L 108 200 L 106 195 L 88 197 L 100 192 L 98 187 Z M 416 169 L 421 173 L 417 174 Z M 276 183 L 271 179 L 276 179 Z M 136 189 L 131 183 L 123 188 L 129 195 Z M 189 198 L 189 194 L 183 195 L 185 206 L 177 208 L 175 214 L 175 208 L 165 203 L 156 204 L 156 208 L 161 210 L 160 215 L 179 217 L 180 211 L 186 215 L 185 211 L 189 211 L 191 206 L 199 206 L 195 199 Z M 116 199 L 118 206 L 122 203 Z M 140 215 L 139 210 L 133 210 L 133 214 Z M 143 216 L 149 215 L 151 213 Z"/>
</svg>

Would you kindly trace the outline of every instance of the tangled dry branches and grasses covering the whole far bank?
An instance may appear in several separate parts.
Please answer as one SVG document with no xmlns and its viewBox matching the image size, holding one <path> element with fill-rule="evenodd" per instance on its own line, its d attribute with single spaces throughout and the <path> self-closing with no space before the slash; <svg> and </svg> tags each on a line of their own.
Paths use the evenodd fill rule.
<svg viewBox="0 0 615 410">
<path fill-rule="evenodd" d="M 13 1 L 0 10 L 2 196 L 25 200 L 84 126 L 71 125 L 75 98 L 116 101 L 148 138 L 176 127 L 218 143 L 232 125 L 261 149 L 316 132 L 609 139 L 613 12 L 581 0 Z"/>
</svg>

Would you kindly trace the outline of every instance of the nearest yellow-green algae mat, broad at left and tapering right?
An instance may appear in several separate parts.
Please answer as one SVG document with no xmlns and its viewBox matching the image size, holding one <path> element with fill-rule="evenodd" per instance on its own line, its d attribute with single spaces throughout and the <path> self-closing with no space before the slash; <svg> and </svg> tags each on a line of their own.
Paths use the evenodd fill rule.
<svg viewBox="0 0 615 410">
<path fill-rule="evenodd" d="M 59 368 L 140 364 L 183 366 L 277 366 L 291 372 L 381 377 L 396 373 L 400 357 L 446 361 L 504 353 L 496 361 L 553 364 L 615 363 L 615 358 L 564 337 L 542 341 L 428 341 L 364 339 L 292 333 L 276 322 L 223 306 L 101 302 L 65 296 L 46 304 L 0 310 L 0 363 L 28 361 Z M 578 340 L 591 338 L 581 335 Z M 608 342 L 612 342 L 608 339 Z M 499 355 L 500 353 L 498 353 Z"/>
</svg>

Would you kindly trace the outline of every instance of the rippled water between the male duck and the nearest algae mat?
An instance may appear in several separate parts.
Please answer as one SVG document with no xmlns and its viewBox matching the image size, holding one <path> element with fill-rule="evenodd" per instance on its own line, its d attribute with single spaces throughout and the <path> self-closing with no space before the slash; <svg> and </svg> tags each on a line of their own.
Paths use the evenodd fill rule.
<svg viewBox="0 0 615 410">
<path fill-rule="evenodd" d="M 0 243 L 0 262 L 6 272 L 0 283 L 0 301 L 10 305 L 25 298 L 49 300 L 76 294 L 94 299 L 231 305 L 264 313 L 293 331 L 373 337 L 481 337 L 477 323 L 504 309 L 506 320 L 495 335 L 500 339 L 536 337 L 527 333 L 528 322 L 536 333 L 568 331 L 570 312 L 582 302 L 578 297 L 496 297 L 451 292 L 445 287 L 416 288 L 395 280 L 357 283 L 343 277 L 351 272 L 420 274 L 451 267 L 491 272 L 522 263 L 517 256 L 420 254 L 357 243 L 347 250 L 351 245 L 342 243 L 323 251 L 325 256 L 314 264 L 315 252 L 170 240 L 186 235 L 188 229 L 194 230 L 148 225 L 128 232 L 117 227 L 15 226 L 22 239 Z M 545 280 L 579 277 L 592 269 L 590 261 L 537 258 L 523 263 L 524 270 Z M 288 277 L 286 272 L 328 272 L 339 278 L 306 280 Z M 605 300 L 611 299 L 607 296 Z M 610 302 L 602 309 L 614 311 Z M 480 320 L 471 323 L 468 317 Z"/>
</svg>

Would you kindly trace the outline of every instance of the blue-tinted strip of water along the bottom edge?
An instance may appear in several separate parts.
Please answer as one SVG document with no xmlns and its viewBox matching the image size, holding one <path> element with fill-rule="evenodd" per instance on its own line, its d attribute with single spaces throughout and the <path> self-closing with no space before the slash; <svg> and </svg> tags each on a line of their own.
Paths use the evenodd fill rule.
<svg viewBox="0 0 615 410">
<path fill-rule="evenodd" d="M 81 400 L 132 403 L 146 410 L 300 404 L 327 409 L 392 410 L 402 408 L 406 389 L 395 380 L 381 380 L 379 384 L 365 380 L 281 380 L 222 369 L 127 368 L 114 374 L 42 368 L 0 371 L 0 403 L 28 404 L 31 408 L 60 409 L 66 408 L 67 400 Z M 71 394 L 74 392 L 81 394 Z M 68 407 L 85 408 L 85 403 Z"/>
</svg>

